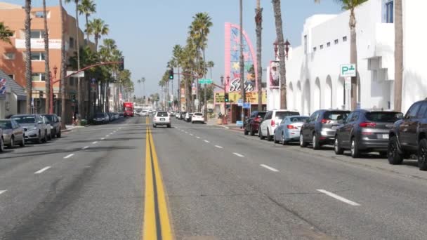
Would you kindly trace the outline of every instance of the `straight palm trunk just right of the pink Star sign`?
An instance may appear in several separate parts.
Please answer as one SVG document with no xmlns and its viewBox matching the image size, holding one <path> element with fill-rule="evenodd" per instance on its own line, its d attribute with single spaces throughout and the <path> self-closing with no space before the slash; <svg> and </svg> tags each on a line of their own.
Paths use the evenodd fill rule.
<svg viewBox="0 0 427 240">
<path fill-rule="evenodd" d="M 263 66 L 261 63 L 261 32 L 263 30 L 263 8 L 260 6 L 260 0 L 256 0 L 255 9 L 255 25 L 256 25 L 256 85 L 258 85 L 258 111 L 263 110 L 263 90 L 261 88 L 261 81 L 263 78 Z"/>
</svg>

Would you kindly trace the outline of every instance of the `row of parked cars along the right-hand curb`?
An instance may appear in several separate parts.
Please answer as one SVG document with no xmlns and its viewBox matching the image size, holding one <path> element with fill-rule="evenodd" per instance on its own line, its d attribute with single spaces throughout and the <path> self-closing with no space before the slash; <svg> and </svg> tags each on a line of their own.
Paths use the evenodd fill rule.
<svg viewBox="0 0 427 240">
<path fill-rule="evenodd" d="M 427 100 L 415 102 L 405 116 L 377 109 L 320 109 L 310 116 L 286 109 L 254 111 L 243 128 L 244 135 L 258 133 L 282 145 L 299 142 L 315 150 L 333 145 L 336 154 L 349 151 L 353 158 L 368 152 L 378 152 L 390 164 L 417 158 L 419 168 L 427 171 Z"/>
</svg>

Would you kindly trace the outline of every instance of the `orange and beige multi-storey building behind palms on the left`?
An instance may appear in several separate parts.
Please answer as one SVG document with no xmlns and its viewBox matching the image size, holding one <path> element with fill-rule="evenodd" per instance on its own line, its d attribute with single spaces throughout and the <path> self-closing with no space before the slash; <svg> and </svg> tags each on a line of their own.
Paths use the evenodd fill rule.
<svg viewBox="0 0 427 240">
<path fill-rule="evenodd" d="M 65 49 L 67 59 L 77 52 L 77 32 L 76 20 L 65 13 Z M 60 58 L 61 58 L 61 32 L 60 7 L 50 6 L 46 8 L 48 34 L 49 34 L 49 67 L 53 75 L 54 67 L 58 67 L 56 77 L 60 78 Z M 45 81 L 45 58 L 44 58 L 44 12 L 43 8 L 32 8 L 31 11 L 31 58 L 32 58 L 32 95 L 37 112 L 44 112 L 46 99 Z M 4 22 L 13 31 L 11 44 L 0 42 L 0 69 L 15 79 L 20 86 L 25 87 L 25 9 L 23 6 L 0 2 L 0 22 Z M 84 46 L 84 32 L 79 29 L 79 44 Z M 91 44 L 91 43 L 90 43 Z M 93 44 L 91 47 L 94 48 Z M 71 69 L 69 69 L 71 70 Z M 44 94 L 39 95 L 43 91 Z M 59 82 L 53 85 L 53 94 L 58 96 L 60 91 Z M 66 88 L 67 111 L 69 116 L 66 123 L 72 121 L 74 106 L 72 99 L 77 93 L 77 79 L 67 80 Z M 87 100 L 87 96 L 85 98 Z M 59 101 L 55 101 L 54 112 L 59 113 Z"/>
</svg>

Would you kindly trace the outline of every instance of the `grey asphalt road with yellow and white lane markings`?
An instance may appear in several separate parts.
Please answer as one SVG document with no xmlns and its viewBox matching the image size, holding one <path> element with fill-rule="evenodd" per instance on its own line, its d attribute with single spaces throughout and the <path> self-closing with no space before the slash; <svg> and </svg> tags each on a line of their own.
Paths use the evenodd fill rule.
<svg viewBox="0 0 427 240">
<path fill-rule="evenodd" d="M 135 117 L 0 154 L 0 239 L 426 239 L 426 196 L 414 161 Z"/>
</svg>

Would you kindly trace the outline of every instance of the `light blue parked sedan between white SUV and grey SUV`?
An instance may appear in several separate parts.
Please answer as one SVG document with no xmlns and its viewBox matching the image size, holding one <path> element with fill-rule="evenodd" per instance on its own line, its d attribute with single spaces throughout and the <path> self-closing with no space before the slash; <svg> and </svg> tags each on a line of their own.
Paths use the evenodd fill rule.
<svg viewBox="0 0 427 240">
<path fill-rule="evenodd" d="M 275 130 L 273 141 L 282 142 L 287 145 L 288 142 L 298 142 L 301 126 L 308 119 L 308 116 L 286 116 Z"/>
</svg>

